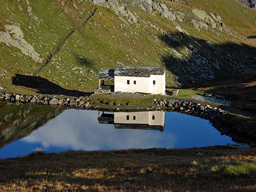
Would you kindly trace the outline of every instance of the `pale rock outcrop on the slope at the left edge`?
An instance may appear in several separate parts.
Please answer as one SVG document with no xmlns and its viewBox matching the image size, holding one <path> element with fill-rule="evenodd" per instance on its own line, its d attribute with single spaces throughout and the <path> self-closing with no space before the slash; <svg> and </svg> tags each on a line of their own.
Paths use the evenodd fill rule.
<svg viewBox="0 0 256 192">
<path fill-rule="evenodd" d="M 0 43 L 4 43 L 7 46 L 17 47 L 35 62 L 43 63 L 44 58 L 40 58 L 40 54 L 35 51 L 34 47 L 23 39 L 24 35 L 19 26 L 5 25 L 4 27 L 6 28 L 6 32 L 0 32 Z"/>
</svg>

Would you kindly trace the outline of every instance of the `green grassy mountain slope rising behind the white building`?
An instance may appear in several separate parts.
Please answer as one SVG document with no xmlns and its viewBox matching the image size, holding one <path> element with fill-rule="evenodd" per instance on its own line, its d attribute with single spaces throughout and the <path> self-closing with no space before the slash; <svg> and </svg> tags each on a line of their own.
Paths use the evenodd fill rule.
<svg viewBox="0 0 256 192">
<path fill-rule="evenodd" d="M 40 76 L 42 81 L 67 90 L 93 91 L 99 68 L 114 68 L 120 63 L 164 65 L 166 85 L 172 87 L 226 78 L 253 70 L 255 64 L 251 58 L 255 57 L 256 44 L 247 37 L 256 34 L 256 11 L 236 0 L 183 0 L 183 4 L 166 0 L 169 10 L 181 16 L 175 22 L 155 12 L 148 14 L 135 1 L 124 0 L 137 17 L 138 22 L 132 24 L 111 9 L 80 0 L 30 1 L 29 5 L 21 0 L 0 2 L 0 31 L 6 31 L 6 24 L 19 25 L 24 39 L 44 57 L 43 64 L 36 63 L 19 49 L 0 43 L 3 88 L 38 91 L 29 82 L 16 84 L 19 80 L 15 74 L 19 74 L 23 79 Z M 31 17 L 28 6 L 38 20 Z M 227 29 L 208 27 L 199 32 L 191 22 L 198 20 L 194 8 L 220 15 Z M 175 23 L 189 35 L 175 29 Z M 195 48 L 197 53 L 192 52 Z"/>
</svg>

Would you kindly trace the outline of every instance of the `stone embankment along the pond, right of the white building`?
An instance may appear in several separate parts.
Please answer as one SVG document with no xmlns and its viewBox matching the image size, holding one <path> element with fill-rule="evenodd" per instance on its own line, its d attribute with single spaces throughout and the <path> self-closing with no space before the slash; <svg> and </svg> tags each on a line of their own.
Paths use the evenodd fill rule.
<svg viewBox="0 0 256 192">
<path fill-rule="evenodd" d="M 211 107 L 210 105 L 201 105 L 195 102 L 173 101 L 173 100 L 159 100 L 155 104 L 161 109 L 181 111 L 192 116 L 198 116 L 207 120 L 219 119 L 222 115 L 227 113 L 220 108 Z"/>
</svg>

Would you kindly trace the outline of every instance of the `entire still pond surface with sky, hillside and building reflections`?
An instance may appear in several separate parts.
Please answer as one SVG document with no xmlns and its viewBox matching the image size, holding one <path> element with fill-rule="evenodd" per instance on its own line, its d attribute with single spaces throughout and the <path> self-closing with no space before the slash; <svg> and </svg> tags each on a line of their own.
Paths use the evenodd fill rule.
<svg viewBox="0 0 256 192">
<path fill-rule="evenodd" d="M 12 115 L 4 116 L 5 109 Z M 2 104 L 0 115 L 0 158 L 22 157 L 35 148 L 60 152 L 192 148 L 235 143 L 207 120 L 176 112 L 99 113 Z"/>
</svg>

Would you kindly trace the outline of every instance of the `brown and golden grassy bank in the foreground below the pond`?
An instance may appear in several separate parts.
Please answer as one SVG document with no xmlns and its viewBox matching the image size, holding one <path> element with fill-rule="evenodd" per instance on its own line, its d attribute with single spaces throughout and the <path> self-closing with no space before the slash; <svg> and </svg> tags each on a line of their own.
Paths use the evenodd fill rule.
<svg viewBox="0 0 256 192">
<path fill-rule="evenodd" d="M 0 160 L 0 191 L 255 191 L 256 148 L 71 151 Z"/>
</svg>

